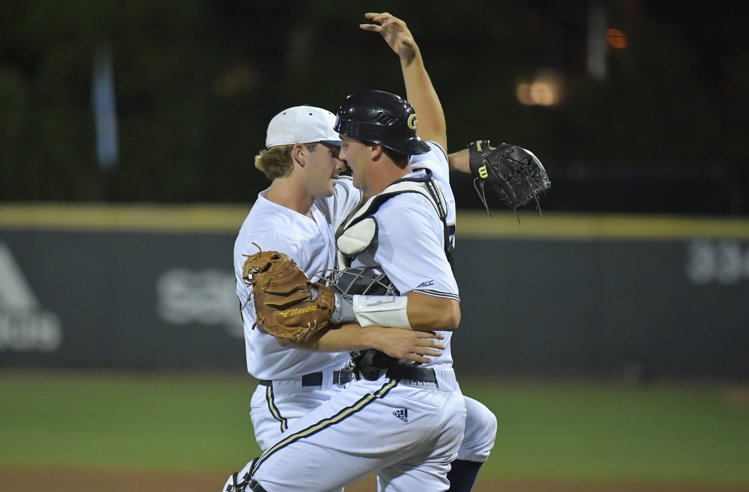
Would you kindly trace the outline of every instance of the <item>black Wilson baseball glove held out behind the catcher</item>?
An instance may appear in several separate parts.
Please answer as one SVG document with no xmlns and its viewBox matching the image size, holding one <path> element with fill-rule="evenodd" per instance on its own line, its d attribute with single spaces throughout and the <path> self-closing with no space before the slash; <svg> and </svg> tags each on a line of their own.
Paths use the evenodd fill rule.
<svg viewBox="0 0 749 492">
<path fill-rule="evenodd" d="M 515 213 L 531 200 L 536 202 L 541 212 L 539 196 L 551 188 L 551 181 L 533 152 L 506 143 L 491 148 L 488 140 L 476 140 L 470 145 L 469 163 L 475 177 L 473 186 L 490 216 L 485 186 L 494 189 L 500 200 Z"/>
</svg>

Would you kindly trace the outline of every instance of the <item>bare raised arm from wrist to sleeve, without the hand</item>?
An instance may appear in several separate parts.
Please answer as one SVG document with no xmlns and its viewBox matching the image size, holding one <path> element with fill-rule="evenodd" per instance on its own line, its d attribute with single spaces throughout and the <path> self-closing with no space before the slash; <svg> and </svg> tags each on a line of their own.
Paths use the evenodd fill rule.
<svg viewBox="0 0 749 492">
<path fill-rule="evenodd" d="M 418 118 L 416 135 L 424 140 L 437 142 L 447 150 L 445 113 L 418 47 L 413 57 L 401 56 L 401 70 L 406 85 L 406 99 L 413 106 Z"/>
</svg>

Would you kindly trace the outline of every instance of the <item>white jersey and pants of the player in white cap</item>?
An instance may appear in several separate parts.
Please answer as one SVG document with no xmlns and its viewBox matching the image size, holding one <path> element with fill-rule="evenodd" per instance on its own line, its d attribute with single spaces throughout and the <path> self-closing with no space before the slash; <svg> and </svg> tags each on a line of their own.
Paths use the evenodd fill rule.
<svg viewBox="0 0 749 492">
<path fill-rule="evenodd" d="M 348 352 L 324 353 L 281 347 L 273 335 L 255 327 L 255 306 L 246 303 L 250 288 L 242 279 L 243 255 L 258 248 L 284 252 L 312 277 L 335 265 L 333 231 L 361 200 L 351 177 L 341 177 L 333 197 L 315 200 L 312 218 L 267 200 L 267 190 L 258 195 L 234 243 L 234 275 L 237 297 L 244 306 L 242 318 L 247 371 L 270 386 L 258 384 L 250 399 L 249 416 L 260 449 L 279 440 L 289 425 L 342 389 L 333 381 L 333 371 L 350 362 Z M 303 385 L 305 374 L 320 374 L 320 384 Z"/>
</svg>

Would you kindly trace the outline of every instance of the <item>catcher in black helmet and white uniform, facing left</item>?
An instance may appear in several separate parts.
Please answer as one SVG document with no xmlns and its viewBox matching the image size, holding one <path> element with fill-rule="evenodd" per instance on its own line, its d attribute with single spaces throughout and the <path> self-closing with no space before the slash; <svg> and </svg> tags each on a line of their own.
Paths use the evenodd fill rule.
<svg viewBox="0 0 749 492">
<path fill-rule="evenodd" d="M 339 112 L 342 154 L 354 171 L 354 184 L 375 195 L 404 177 L 430 179 L 425 171 L 412 173 L 408 165 L 411 154 L 439 158 L 416 137 L 413 109 L 395 94 L 377 92 L 379 99 L 372 101 L 372 92 L 348 97 L 345 104 L 351 111 L 342 107 Z M 357 108 L 363 109 L 363 121 L 342 119 L 356 118 Z M 365 127 L 380 116 L 396 122 L 386 141 L 388 148 L 395 148 L 397 163 L 383 151 L 384 145 L 368 147 L 345 136 L 356 133 L 351 127 Z M 444 154 L 442 159 L 446 160 Z M 404 295 L 355 296 L 357 321 L 362 326 L 404 324 L 403 328 L 414 330 L 457 328 L 458 286 L 445 255 L 449 238 L 444 217 L 424 195 L 410 192 L 390 198 L 374 217 L 379 224 L 377 249 L 366 252 L 362 266 L 381 267 Z M 409 306 L 422 314 L 410 316 Z M 446 349 L 440 356 L 420 366 L 398 362 L 377 374 L 369 372 L 370 379 L 352 381 L 294 422 L 281 440 L 234 477 L 237 485 L 228 486 L 268 492 L 327 491 L 377 473 L 382 491 L 447 491 L 449 464 L 457 457 L 463 437 L 465 404 L 449 356 L 451 332 L 443 335 Z"/>
</svg>

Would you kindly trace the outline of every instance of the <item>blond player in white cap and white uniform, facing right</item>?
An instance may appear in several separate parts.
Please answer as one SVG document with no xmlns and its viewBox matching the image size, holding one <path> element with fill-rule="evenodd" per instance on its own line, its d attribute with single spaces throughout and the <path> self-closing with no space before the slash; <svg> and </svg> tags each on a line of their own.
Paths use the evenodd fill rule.
<svg viewBox="0 0 749 492">
<path fill-rule="evenodd" d="M 434 354 L 437 351 L 429 347 L 441 347 L 425 332 L 357 326 L 343 327 L 321 341 L 325 344 L 334 335 L 349 335 L 339 342 L 340 347 L 322 347 L 336 351 L 312 352 L 282 347 L 262 329 L 252 329 L 255 310 L 252 303 L 245 303 L 249 287 L 242 279 L 243 254 L 255 249 L 252 243 L 286 252 L 312 276 L 335 264 L 333 231 L 360 202 L 361 192 L 352 186 L 351 177 L 339 177 L 345 165 L 338 159 L 341 141 L 334 123 L 333 113 L 314 106 L 285 109 L 270 121 L 268 150 L 258 154 L 256 165 L 273 183 L 258 195 L 234 243 L 237 296 L 244 305 L 247 370 L 259 380 L 250 418 L 263 450 L 281 437 L 290 422 L 353 379 L 349 350 L 378 347 L 424 362 L 428 359 L 419 354 Z"/>
</svg>

